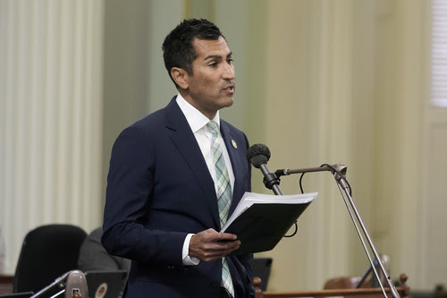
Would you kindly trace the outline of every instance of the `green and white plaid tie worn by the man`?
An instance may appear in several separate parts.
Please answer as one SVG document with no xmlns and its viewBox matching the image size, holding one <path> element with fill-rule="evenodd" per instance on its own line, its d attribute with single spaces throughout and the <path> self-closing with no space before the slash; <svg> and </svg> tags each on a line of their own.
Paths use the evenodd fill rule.
<svg viewBox="0 0 447 298">
<path fill-rule="evenodd" d="M 211 139 L 211 152 L 215 158 L 217 205 L 219 206 L 221 226 L 223 226 L 228 217 L 228 212 L 232 203 L 232 186 L 230 185 L 228 170 L 225 166 L 225 161 L 223 160 L 222 148 L 224 145 L 222 138 L 219 138 L 217 123 L 215 123 L 215 121 L 210 121 L 207 123 L 207 127 L 213 135 L 213 138 Z M 230 294 L 232 294 L 232 297 L 234 297 L 232 276 L 230 275 L 226 258 L 222 258 L 222 285 Z"/>
</svg>

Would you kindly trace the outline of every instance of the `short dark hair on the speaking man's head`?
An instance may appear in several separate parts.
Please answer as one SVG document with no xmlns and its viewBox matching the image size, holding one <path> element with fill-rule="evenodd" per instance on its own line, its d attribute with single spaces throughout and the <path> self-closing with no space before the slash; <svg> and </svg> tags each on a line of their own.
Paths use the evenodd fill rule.
<svg viewBox="0 0 447 298">
<path fill-rule="evenodd" d="M 175 27 L 163 43 L 164 67 L 171 76 L 171 69 L 179 67 L 192 75 L 192 62 L 197 57 L 197 53 L 192 46 L 194 38 L 217 40 L 223 37 L 221 31 L 214 23 L 205 19 L 183 20 Z M 224 38 L 224 37 L 223 37 Z M 177 83 L 173 81 L 175 86 Z"/>
</svg>

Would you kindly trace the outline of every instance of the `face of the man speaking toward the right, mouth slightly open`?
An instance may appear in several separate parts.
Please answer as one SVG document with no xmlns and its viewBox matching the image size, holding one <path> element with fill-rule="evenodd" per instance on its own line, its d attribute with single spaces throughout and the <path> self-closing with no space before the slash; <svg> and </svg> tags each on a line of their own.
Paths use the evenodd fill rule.
<svg viewBox="0 0 447 298">
<path fill-rule="evenodd" d="M 192 75 L 187 76 L 184 98 L 209 119 L 225 107 L 232 106 L 235 90 L 232 51 L 225 39 L 195 38 L 192 45 L 197 58 L 192 62 Z"/>
</svg>

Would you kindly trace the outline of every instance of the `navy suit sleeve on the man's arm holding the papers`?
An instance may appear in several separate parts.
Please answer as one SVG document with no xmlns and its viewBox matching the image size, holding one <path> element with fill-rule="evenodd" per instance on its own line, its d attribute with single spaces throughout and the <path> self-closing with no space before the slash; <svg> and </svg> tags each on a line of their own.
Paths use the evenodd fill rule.
<svg viewBox="0 0 447 298">
<path fill-rule="evenodd" d="M 185 233 L 149 230 L 145 213 L 153 191 L 154 151 L 141 127 L 114 143 L 105 195 L 101 242 L 111 254 L 145 263 L 181 265 Z"/>
</svg>

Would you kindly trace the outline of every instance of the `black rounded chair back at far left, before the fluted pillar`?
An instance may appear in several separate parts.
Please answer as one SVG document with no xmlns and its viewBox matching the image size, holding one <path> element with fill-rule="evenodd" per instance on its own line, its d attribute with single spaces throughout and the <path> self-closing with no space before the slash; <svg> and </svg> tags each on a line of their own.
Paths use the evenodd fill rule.
<svg viewBox="0 0 447 298">
<path fill-rule="evenodd" d="M 13 292 L 37 293 L 63 273 L 77 268 L 80 245 L 87 233 L 79 226 L 46 225 L 23 240 L 13 278 Z"/>
</svg>

